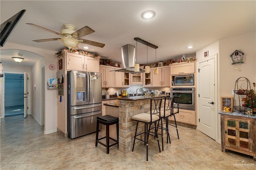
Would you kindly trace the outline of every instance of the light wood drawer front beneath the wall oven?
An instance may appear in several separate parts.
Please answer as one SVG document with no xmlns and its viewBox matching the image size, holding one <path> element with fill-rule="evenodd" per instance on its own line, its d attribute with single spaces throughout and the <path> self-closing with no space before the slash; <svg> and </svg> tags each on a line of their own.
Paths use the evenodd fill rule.
<svg viewBox="0 0 256 170">
<path fill-rule="evenodd" d="M 196 112 L 192 110 L 179 109 L 179 113 L 175 115 L 176 121 L 196 125 Z M 170 120 L 174 121 L 172 116 Z"/>
</svg>

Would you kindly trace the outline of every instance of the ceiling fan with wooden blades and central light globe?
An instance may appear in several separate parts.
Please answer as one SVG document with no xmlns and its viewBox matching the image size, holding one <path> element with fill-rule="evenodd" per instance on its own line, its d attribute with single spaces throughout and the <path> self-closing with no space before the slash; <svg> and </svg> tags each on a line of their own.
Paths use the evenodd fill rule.
<svg viewBox="0 0 256 170">
<path fill-rule="evenodd" d="M 76 45 L 78 45 L 78 43 L 85 43 L 88 45 L 93 45 L 96 47 L 104 47 L 104 43 L 99 43 L 99 42 L 93 42 L 90 40 L 85 40 L 82 39 L 81 37 L 86 36 L 88 34 L 92 34 L 93 32 L 95 32 L 94 30 L 92 30 L 92 28 L 88 27 L 88 26 L 84 26 L 83 28 L 81 28 L 80 30 L 75 31 L 75 26 L 73 26 L 72 24 L 64 24 L 64 29 L 62 29 L 60 31 L 60 33 L 49 30 L 47 28 L 38 26 L 36 24 L 30 24 L 30 23 L 26 23 L 30 26 L 36 27 L 36 28 L 40 28 L 42 30 L 51 32 L 53 34 L 57 34 L 59 36 L 62 36 L 62 38 L 50 38 L 50 39 L 42 39 L 42 40 L 32 40 L 33 42 L 48 42 L 48 41 L 56 41 L 56 40 L 60 40 L 64 43 L 64 45 L 66 47 L 68 47 L 69 49 L 76 47 Z"/>
</svg>

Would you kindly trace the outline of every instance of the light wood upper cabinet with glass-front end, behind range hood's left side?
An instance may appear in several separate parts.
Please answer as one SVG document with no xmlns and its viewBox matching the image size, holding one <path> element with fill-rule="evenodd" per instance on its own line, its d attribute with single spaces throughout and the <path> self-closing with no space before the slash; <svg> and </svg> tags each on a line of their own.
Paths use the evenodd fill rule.
<svg viewBox="0 0 256 170">
<path fill-rule="evenodd" d="M 130 87 L 130 74 L 115 72 L 115 87 Z"/>
</svg>

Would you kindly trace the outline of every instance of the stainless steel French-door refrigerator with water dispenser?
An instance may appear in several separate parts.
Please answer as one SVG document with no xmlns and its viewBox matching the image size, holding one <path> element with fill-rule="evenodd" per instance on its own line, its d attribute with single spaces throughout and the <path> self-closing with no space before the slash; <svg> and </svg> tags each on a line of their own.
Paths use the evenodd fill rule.
<svg viewBox="0 0 256 170">
<path fill-rule="evenodd" d="M 101 73 L 68 71 L 68 137 L 96 131 L 102 115 Z"/>
</svg>

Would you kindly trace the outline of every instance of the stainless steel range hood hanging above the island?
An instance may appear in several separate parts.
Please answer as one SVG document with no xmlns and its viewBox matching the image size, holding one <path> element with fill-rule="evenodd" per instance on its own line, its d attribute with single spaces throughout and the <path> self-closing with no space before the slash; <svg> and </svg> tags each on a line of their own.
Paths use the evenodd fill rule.
<svg viewBox="0 0 256 170">
<path fill-rule="evenodd" d="M 140 68 L 140 71 L 134 71 L 135 64 L 135 46 L 126 44 L 122 46 L 122 69 L 115 71 L 123 73 L 144 73 L 145 70 Z"/>
</svg>

